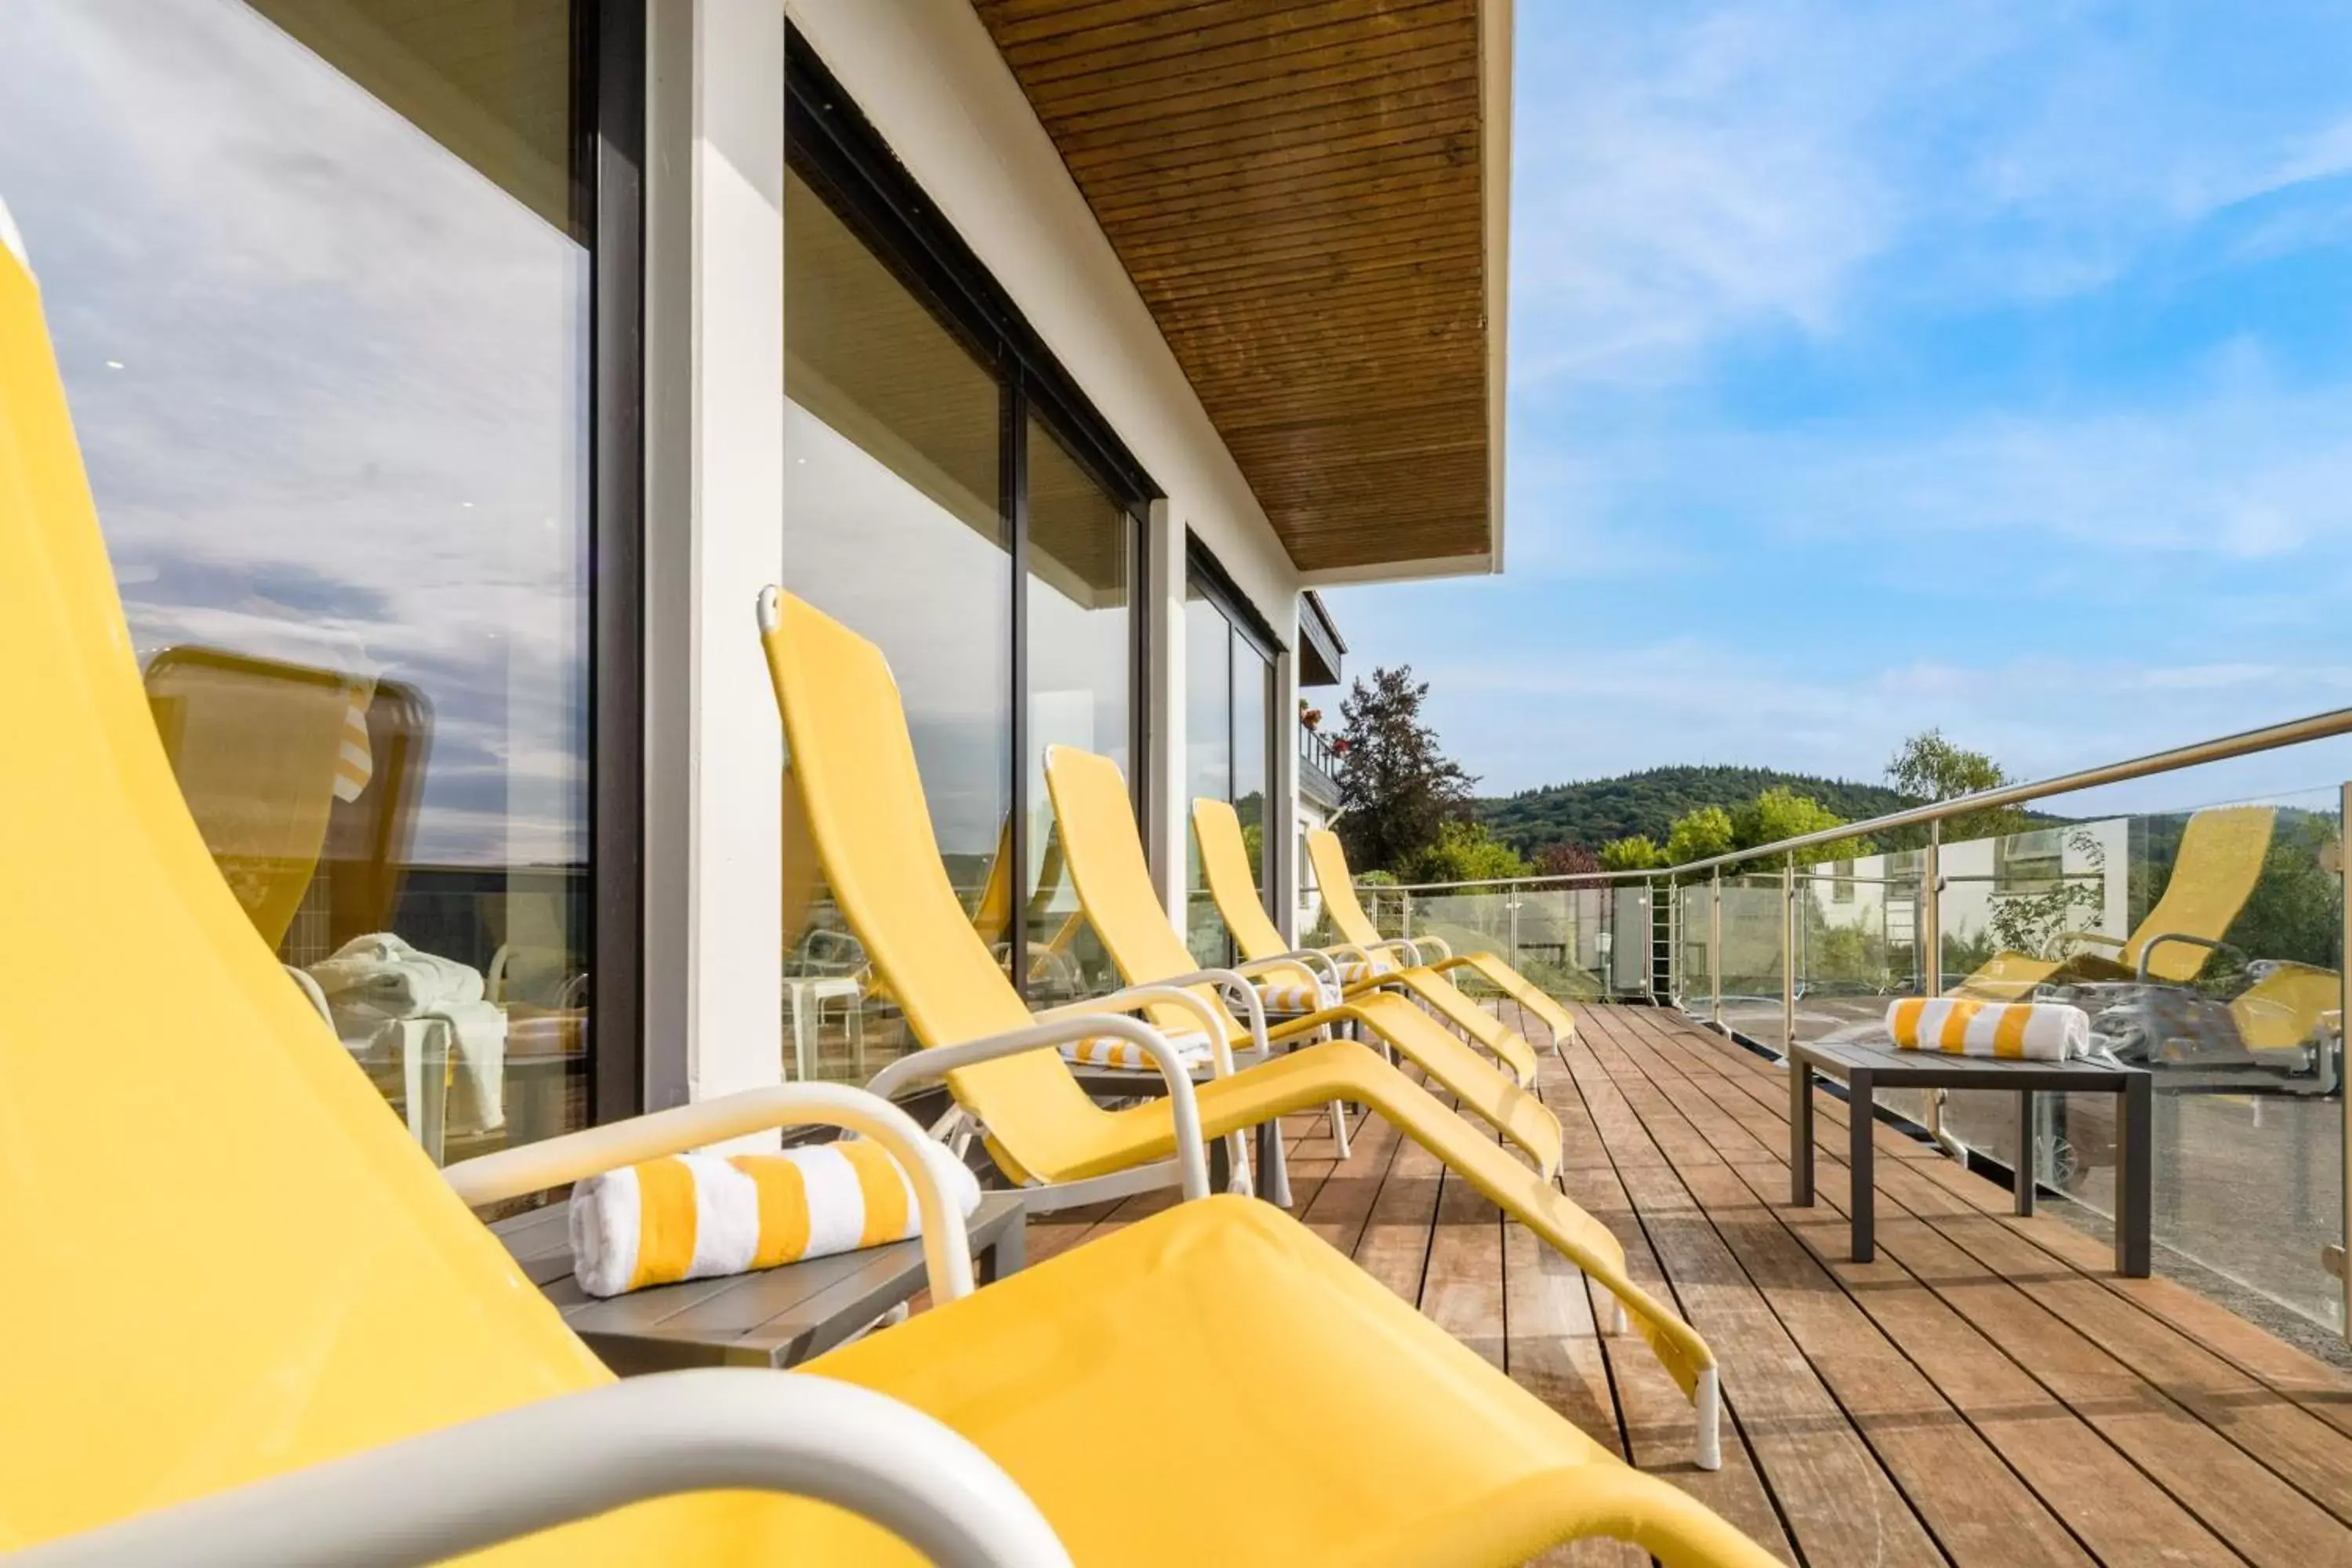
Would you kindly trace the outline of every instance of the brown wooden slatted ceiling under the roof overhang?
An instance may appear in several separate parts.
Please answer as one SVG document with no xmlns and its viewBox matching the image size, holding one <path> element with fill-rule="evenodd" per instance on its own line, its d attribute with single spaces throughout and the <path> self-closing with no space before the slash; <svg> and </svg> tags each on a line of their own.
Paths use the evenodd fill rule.
<svg viewBox="0 0 2352 1568">
<path fill-rule="evenodd" d="M 1479 0 L 974 0 L 1308 571 L 1486 557 Z"/>
</svg>

